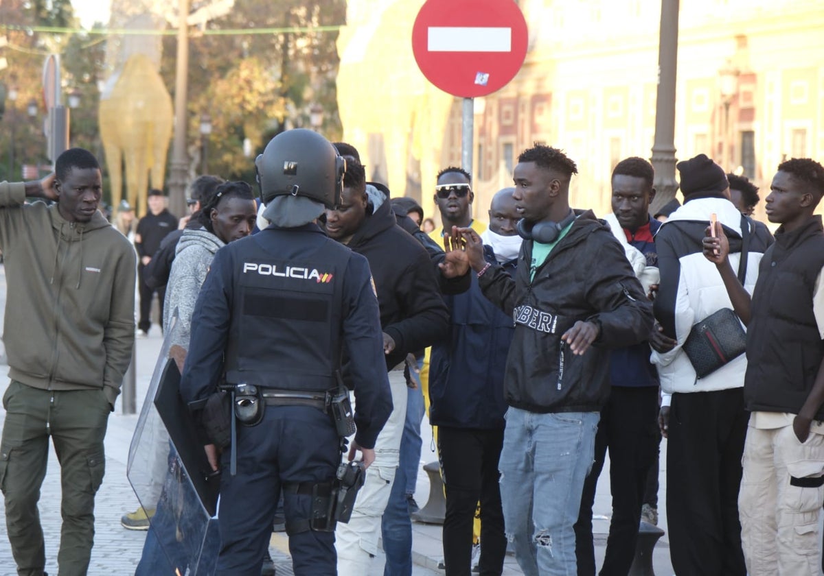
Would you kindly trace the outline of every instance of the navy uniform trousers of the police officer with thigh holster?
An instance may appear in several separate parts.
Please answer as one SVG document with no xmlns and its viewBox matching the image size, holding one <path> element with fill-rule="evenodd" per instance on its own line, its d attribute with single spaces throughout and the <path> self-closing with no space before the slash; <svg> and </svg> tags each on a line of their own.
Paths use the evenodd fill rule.
<svg viewBox="0 0 824 576">
<path fill-rule="evenodd" d="M 340 444 L 330 416 L 310 406 L 266 406 L 259 425 L 237 426 L 237 474 L 222 454 L 221 549 L 216 576 L 260 576 L 272 518 L 285 483 L 335 478 Z M 283 494 L 287 526 L 311 518 L 311 495 Z M 334 576 L 335 532 L 309 530 L 289 537 L 296 576 Z"/>
</svg>

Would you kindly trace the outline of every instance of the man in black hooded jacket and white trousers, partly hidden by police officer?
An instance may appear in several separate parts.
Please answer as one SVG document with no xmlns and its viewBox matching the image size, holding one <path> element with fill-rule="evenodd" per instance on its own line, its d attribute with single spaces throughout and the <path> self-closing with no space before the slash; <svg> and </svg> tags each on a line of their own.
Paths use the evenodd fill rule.
<svg viewBox="0 0 824 576">
<path fill-rule="evenodd" d="M 377 554 L 381 518 L 398 466 L 406 415 L 406 355 L 442 337 L 449 314 L 426 250 L 396 223 L 389 190 L 367 185 L 363 165 L 353 156 L 344 157 L 344 190 L 336 209 L 326 211 L 326 233 L 369 261 L 381 310 L 393 404 L 392 414 L 378 434 L 375 463 L 358 494 L 352 518 L 335 531 L 339 574 L 361 576 L 368 573 L 370 556 Z M 393 531 L 395 538 L 384 541 L 387 566 L 397 564 L 391 567 L 391 574 L 411 572 L 411 523 L 405 507 L 404 517 L 403 526 Z"/>
</svg>

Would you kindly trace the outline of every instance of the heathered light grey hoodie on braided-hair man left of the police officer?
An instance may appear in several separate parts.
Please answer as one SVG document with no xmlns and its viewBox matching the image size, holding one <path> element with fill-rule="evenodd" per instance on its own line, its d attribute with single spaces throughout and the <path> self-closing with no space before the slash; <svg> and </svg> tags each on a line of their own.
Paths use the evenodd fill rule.
<svg viewBox="0 0 824 576">
<path fill-rule="evenodd" d="M 177 241 L 163 307 L 163 332 L 171 338 L 171 345 L 189 350 L 194 303 L 198 300 L 200 286 L 206 280 L 214 253 L 224 245 L 221 239 L 205 228 L 184 230 Z M 175 314 L 177 319 L 171 330 L 171 320 Z"/>
</svg>

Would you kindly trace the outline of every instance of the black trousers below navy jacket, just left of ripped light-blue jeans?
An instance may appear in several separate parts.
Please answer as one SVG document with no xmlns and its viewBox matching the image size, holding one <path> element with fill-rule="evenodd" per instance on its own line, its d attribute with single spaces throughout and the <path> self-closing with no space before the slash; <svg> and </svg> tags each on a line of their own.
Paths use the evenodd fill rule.
<svg viewBox="0 0 824 576">
<path fill-rule="evenodd" d="M 500 576 L 507 539 L 498 486 L 503 429 L 438 427 L 438 453 L 446 485 L 443 563 L 447 576 L 470 576 L 472 523 L 480 500 L 481 576 Z"/>
</svg>

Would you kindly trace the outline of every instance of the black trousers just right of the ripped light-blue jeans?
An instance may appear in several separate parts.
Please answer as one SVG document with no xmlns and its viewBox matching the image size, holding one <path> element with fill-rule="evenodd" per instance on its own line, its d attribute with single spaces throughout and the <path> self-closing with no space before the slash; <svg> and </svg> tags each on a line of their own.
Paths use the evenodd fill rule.
<svg viewBox="0 0 824 576">
<path fill-rule="evenodd" d="M 626 576 L 635 555 L 641 504 L 658 438 L 658 388 L 613 387 L 601 411 L 595 435 L 595 462 L 583 483 L 581 509 L 575 523 L 575 556 L 579 576 L 595 574 L 592 504 L 606 450 L 610 451 L 612 521 L 600 574 Z"/>
</svg>

